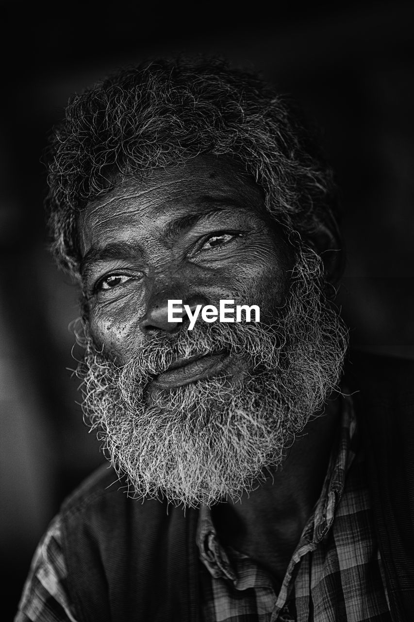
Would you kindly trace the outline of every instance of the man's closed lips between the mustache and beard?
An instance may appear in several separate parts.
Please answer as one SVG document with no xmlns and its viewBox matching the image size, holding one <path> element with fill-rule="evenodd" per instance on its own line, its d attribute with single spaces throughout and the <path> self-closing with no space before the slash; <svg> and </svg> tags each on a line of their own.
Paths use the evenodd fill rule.
<svg viewBox="0 0 414 622">
<path fill-rule="evenodd" d="M 173 389 L 183 384 L 211 378 L 221 373 L 228 366 L 229 361 L 230 356 L 226 351 L 180 359 L 174 361 L 167 371 L 163 371 L 152 381 L 152 384 L 160 389 Z"/>
</svg>

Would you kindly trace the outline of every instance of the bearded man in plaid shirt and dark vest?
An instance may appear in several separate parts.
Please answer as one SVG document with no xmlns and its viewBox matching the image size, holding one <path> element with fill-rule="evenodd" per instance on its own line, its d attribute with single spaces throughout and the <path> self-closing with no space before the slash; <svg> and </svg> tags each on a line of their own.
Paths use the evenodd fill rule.
<svg viewBox="0 0 414 622">
<path fill-rule="evenodd" d="M 63 503 L 16 620 L 410 620 L 412 366 L 344 363 L 333 182 L 292 106 L 217 60 L 148 63 L 71 101 L 50 162 L 113 466 Z"/>
</svg>

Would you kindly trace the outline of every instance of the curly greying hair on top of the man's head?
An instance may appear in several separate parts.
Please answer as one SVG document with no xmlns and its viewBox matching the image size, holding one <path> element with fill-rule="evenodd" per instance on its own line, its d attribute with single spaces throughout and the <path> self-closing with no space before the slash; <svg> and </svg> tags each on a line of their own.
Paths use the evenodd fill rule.
<svg viewBox="0 0 414 622">
<path fill-rule="evenodd" d="M 78 273 L 78 214 L 126 177 L 199 154 L 237 159 L 275 221 L 306 239 L 338 217 L 331 170 L 292 102 L 218 58 L 154 60 L 75 95 L 48 149 L 48 224 L 58 264 Z"/>
</svg>

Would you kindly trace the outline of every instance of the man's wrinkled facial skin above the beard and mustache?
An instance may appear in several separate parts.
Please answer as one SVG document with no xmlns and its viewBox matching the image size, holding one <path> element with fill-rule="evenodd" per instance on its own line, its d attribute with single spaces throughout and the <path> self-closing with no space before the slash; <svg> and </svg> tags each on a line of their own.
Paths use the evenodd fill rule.
<svg viewBox="0 0 414 622">
<path fill-rule="evenodd" d="M 259 305 L 269 321 L 285 301 L 293 253 L 263 203 L 236 165 L 211 157 L 126 182 L 88 207 L 79 228 L 96 343 L 126 363 L 150 335 L 177 330 L 165 325 L 168 299 L 233 299 Z"/>
</svg>

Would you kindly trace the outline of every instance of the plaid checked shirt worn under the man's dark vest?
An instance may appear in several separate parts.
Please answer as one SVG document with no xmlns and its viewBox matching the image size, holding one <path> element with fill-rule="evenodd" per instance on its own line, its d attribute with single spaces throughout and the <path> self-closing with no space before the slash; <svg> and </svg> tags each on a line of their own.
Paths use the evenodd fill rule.
<svg viewBox="0 0 414 622">
<path fill-rule="evenodd" d="M 339 447 L 293 552 L 282 585 L 249 557 L 218 541 L 202 507 L 197 544 L 205 622 L 390 622 L 384 570 L 374 535 L 356 420 L 343 399 Z M 60 518 L 35 553 L 15 622 L 76 622 L 66 589 Z"/>
</svg>

